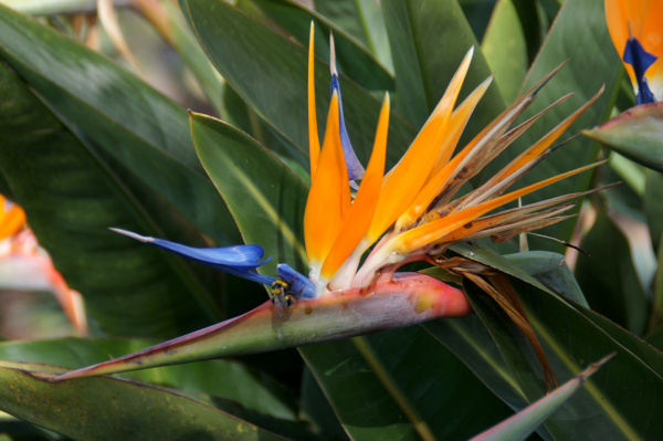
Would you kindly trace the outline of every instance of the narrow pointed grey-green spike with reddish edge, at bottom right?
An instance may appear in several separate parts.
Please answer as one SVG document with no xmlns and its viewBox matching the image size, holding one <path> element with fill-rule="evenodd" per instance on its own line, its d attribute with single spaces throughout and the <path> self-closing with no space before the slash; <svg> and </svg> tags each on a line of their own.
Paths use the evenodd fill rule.
<svg viewBox="0 0 663 441">
<path fill-rule="evenodd" d="M 472 438 L 472 441 L 520 441 L 527 439 L 536 428 L 543 423 L 554 411 L 559 409 L 585 381 L 591 377 L 606 361 L 612 356 L 589 365 L 580 375 L 572 378 L 555 389 L 554 392 L 545 396 L 538 401 L 523 409 L 517 414 L 502 421 L 494 428 Z"/>
</svg>

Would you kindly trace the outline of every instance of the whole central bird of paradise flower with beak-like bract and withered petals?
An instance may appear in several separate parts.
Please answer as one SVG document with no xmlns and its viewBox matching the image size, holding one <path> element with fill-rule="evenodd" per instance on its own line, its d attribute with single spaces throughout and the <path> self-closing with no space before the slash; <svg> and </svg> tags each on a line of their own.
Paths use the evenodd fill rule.
<svg viewBox="0 0 663 441">
<path fill-rule="evenodd" d="M 454 199 L 470 179 L 544 113 L 570 96 L 561 97 L 547 109 L 509 129 L 557 70 L 453 156 L 470 116 L 492 81 L 488 77 L 455 106 L 473 55 L 471 49 L 408 151 L 385 174 L 389 95 L 385 96 L 371 157 L 364 169 L 345 129 L 332 49 L 332 103 L 320 147 L 313 48 L 312 28 L 308 59 L 312 186 L 304 216 L 308 275 L 296 272 L 287 263 L 277 265 L 278 277 L 255 272 L 266 262 L 262 260 L 263 251 L 259 245 L 194 249 L 116 230 L 222 271 L 271 285 L 273 298 L 242 316 L 136 354 L 61 375 L 59 380 L 302 346 L 471 314 L 472 307 L 461 290 L 421 273 L 398 271 L 406 263 L 428 261 L 469 277 L 493 295 L 528 334 L 544 366 L 547 385 L 555 382 L 536 335 L 506 279 L 476 263 L 459 258 L 448 260 L 443 253 L 456 242 L 486 237 L 503 242 L 568 218 L 565 213 L 572 208 L 571 200 L 585 193 L 565 195 L 495 214 L 491 212 L 598 165 L 506 192 L 556 149 L 552 147 L 555 140 L 602 91 L 485 183 Z M 360 185 L 357 187 L 354 182 L 358 180 Z M 357 188 L 355 195 L 352 187 Z"/>
</svg>

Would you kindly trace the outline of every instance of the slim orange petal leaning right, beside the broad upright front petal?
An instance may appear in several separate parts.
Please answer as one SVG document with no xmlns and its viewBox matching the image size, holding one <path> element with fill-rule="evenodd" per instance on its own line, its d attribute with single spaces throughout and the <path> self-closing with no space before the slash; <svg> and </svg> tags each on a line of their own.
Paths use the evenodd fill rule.
<svg viewBox="0 0 663 441">
<path fill-rule="evenodd" d="M 380 119 L 376 133 L 373 149 L 361 186 L 345 220 L 340 234 L 336 239 L 329 255 L 323 264 L 320 279 L 329 280 L 352 253 L 370 225 L 385 174 L 385 157 L 387 156 L 387 133 L 389 129 L 389 94 L 385 96 Z"/>
</svg>

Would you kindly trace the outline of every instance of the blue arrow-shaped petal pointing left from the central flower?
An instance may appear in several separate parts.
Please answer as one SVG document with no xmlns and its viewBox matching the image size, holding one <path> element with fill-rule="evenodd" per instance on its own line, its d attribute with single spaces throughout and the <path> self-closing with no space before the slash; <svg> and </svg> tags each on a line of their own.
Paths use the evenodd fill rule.
<svg viewBox="0 0 663 441">
<path fill-rule="evenodd" d="M 275 277 L 249 271 L 254 270 L 271 260 L 271 258 L 269 258 L 261 261 L 264 255 L 264 250 L 260 245 L 193 248 L 164 239 L 140 235 L 118 228 L 112 228 L 110 230 L 253 282 L 271 285 L 276 280 Z"/>
</svg>

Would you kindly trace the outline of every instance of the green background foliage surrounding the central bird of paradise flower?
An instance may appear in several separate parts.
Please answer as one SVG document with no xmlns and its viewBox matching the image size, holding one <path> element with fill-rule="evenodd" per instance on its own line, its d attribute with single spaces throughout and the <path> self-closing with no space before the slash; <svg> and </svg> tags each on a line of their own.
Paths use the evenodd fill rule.
<svg viewBox="0 0 663 441">
<path fill-rule="evenodd" d="M 471 286 L 476 315 L 465 318 L 119 378 L 53 385 L 34 371 L 103 361 L 266 300 L 260 286 L 108 227 L 192 245 L 244 240 L 263 245 L 270 265 L 304 266 L 311 21 L 319 124 L 332 31 L 348 132 L 365 164 L 383 92 L 394 103 L 391 166 L 471 45 L 462 95 L 493 72 L 495 82 L 464 141 L 570 60 L 524 117 L 576 96 L 509 147 L 496 169 L 602 84 L 567 137 L 634 105 L 601 1 L 341 0 L 313 9 L 285 0 L 127 1 L 117 19 L 138 55 L 134 65 L 109 43 L 108 29 L 90 48 L 99 29 L 95 2 L 6 3 L 35 17 L 0 6 L 0 192 L 25 209 L 91 322 L 90 337 L 0 343 L 0 409 L 18 417 L 3 419 L 8 439 L 463 440 L 545 395 L 525 338 Z M 164 71 L 166 80 L 156 74 Z M 538 238 L 529 248 L 539 251 L 516 253 L 516 242 L 452 250 L 509 275 L 560 382 L 615 354 L 530 439 L 655 439 L 663 430 L 660 172 L 578 137 L 520 185 L 599 158 L 610 160 L 593 175 L 532 197 L 624 182 L 544 232 L 581 239 L 590 256 L 565 261 L 564 245 Z"/>
</svg>

